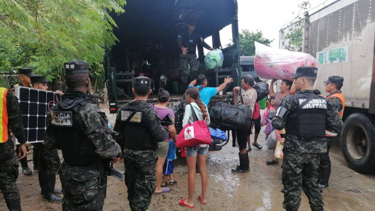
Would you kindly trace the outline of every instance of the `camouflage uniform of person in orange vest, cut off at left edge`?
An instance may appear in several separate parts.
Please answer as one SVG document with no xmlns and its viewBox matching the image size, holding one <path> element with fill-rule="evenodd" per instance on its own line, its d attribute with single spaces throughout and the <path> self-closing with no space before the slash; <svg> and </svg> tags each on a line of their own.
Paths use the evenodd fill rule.
<svg viewBox="0 0 375 211">
<path fill-rule="evenodd" d="M 0 100 L 3 100 L 2 98 Z M 14 145 L 10 130 L 21 144 L 26 143 L 20 105 L 17 98 L 9 90 L 6 94 L 6 110 L 8 114 L 8 139 L 0 143 L 0 190 L 4 194 L 6 205 L 11 210 L 21 210 L 20 194 L 16 185 L 18 178 L 18 162 L 14 156 Z"/>
</svg>

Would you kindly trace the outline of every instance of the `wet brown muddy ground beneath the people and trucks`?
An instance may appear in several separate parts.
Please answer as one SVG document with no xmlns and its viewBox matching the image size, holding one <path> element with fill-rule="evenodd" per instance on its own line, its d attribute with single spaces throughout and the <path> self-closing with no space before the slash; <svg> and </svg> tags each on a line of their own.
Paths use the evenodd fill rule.
<svg viewBox="0 0 375 211">
<path fill-rule="evenodd" d="M 108 109 L 108 108 L 107 108 Z M 103 109 L 108 113 L 107 109 Z M 115 117 L 107 114 L 114 124 Z M 253 138 L 253 136 L 252 136 Z M 258 138 L 258 143 L 265 146 L 263 130 Z M 208 187 L 207 205 L 200 205 L 195 199 L 193 210 L 248 210 L 248 211 L 278 211 L 282 209 L 284 200 L 281 183 L 281 164 L 267 166 L 266 160 L 272 156 L 272 151 L 254 149 L 249 153 L 250 171 L 245 174 L 231 173 L 231 168 L 238 164 L 238 149 L 231 146 L 231 141 L 221 151 L 210 152 L 207 158 Z M 357 211 L 375 210 L 375 175 L 357 173 L 347 167 L 339 146 L 333 146 L 330 152 L 332 160 L 332 174 L 329 188 L 324 189 L 323 200 L 325 210 Z M 28 154 L 32 159 L 32 152 Z M 62 157 L 61 157 L 62 158 Z M 29 162 L 32 169 L 33 161 Z M 118 169 L 124 170 L 123 164 L 115 164 Z M 187 197 L 187 166 L 184 158 L 175 160 L 174 170 L 177 185 L 169 193 L 152 197 L 148 210 L 187 210 L 189 208 L 177 205 L 178 201 Z M 200 177 L 196 177 L 195 194 L 200 194 Z M 52 204 L 42 200 L 38 184 L 37 172 L 31 176 L 21 173 L 17 180 L 21 194 L 23 210 L 61 210 L 61 203 Z M 57 176 L 56 187 L 60 188 Z M 124 181 L 110 177 L 108 179 L 107 198 L 105 211 L 130 210 L 126 199 L 126 186 Z M 0 194 L 0 210 L 6 210 L 3 195 Z M 310 210 L 308 200 L 302 193 L 300 211 Z"/>
</svg>

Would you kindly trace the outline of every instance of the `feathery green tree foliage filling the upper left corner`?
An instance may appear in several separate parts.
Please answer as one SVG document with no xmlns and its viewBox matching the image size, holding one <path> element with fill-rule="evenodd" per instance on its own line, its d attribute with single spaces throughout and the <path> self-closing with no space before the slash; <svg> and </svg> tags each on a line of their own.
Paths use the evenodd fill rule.
<svg viewBox="0 0 375 211">
<path fill-rule="evenodd" d="M 0 74 L 18 66 L 62 79 L 63 63 L 103 61 L 117 38 L 109 12 L 123 13 L 126 0 L 0 1 Z"/>
</svg>

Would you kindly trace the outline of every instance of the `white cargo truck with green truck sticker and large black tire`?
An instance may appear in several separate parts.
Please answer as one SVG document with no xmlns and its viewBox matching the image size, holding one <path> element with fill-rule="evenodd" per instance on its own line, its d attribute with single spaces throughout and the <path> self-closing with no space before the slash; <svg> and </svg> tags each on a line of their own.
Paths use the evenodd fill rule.
<svg viewBox="0 0 375 211">
<path fill-rule="evenodd" d="M 375 0 L 338 0 L 308 16 L 303 52 L 320 63 L 315 86 L 344 77 L 341 149 L 349 167 L 375 172 Z M 283 32 L 280 30 L 280 43 Z"/>
</svg>

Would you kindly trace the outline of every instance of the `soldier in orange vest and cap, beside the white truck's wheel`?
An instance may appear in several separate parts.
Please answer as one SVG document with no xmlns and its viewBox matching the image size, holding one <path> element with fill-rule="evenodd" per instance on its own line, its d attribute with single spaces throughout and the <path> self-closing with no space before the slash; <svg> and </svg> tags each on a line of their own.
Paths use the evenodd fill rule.
<svg viewBox="0 0 375 211">
<path fill-rule="evenodd" d="M 326 92 L 329 93 L 327 96 L 328 100 L 335 105 L 336 109 L 339 111 L 340 118 L 342 118 L 345 108 L 345 98 L 341 93 L 341 87 L 344 84 L 344 78 L 333 75 L 328 77 L 328 80 L 324 81 L 323 83 L 326 84 Z M 327 152 L 320 154 L 320 181 L 318 183 L 320 188 L 328 187 L 328 180 L 331 174 L 331 160 L 328 153 L 336 136 L 337 133 L 332 133 L 326 130 Z"/>
</svg>

